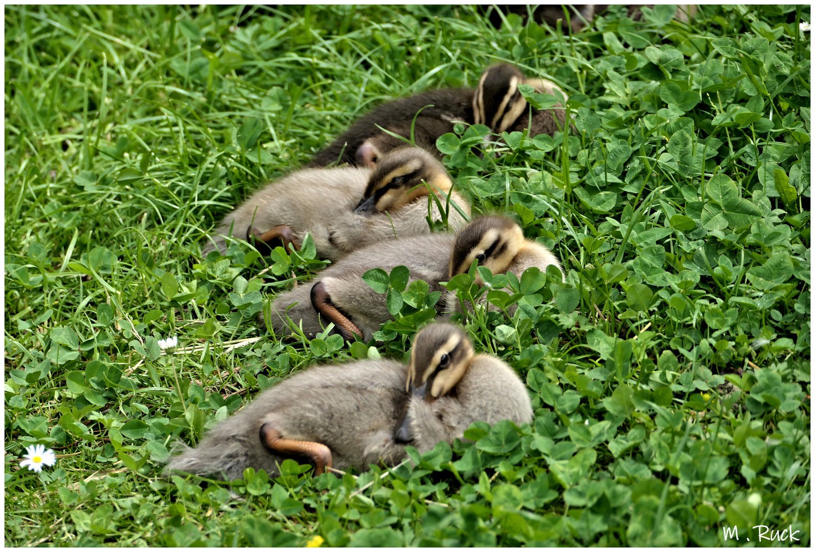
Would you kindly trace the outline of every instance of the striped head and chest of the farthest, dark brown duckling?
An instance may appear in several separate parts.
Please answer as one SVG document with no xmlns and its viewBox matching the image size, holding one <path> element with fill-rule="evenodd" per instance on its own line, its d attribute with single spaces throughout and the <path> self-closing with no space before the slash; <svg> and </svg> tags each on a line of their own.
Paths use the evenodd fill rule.
<svg viewBox="0 0 815 552">
<path fill-rule="evenodd" d="M 528 103 L 518 85 L 531 85 L 539 92 L 555 95 L 558 90 L 568 99 L 563 90 L 546 79 L 527 79 L 520 69 L 511 64 L 496 64 L 487 68 L 478 81 L 473 95 L 473 112 L 477 124 L 487 125 L 496 134 L 522 132 L 529 129 L 529 135 L 555 134 L 566 128 L 566 110 L 561 103 L 553 109 L 533 110 L 529 113 Z"/>
</svg>

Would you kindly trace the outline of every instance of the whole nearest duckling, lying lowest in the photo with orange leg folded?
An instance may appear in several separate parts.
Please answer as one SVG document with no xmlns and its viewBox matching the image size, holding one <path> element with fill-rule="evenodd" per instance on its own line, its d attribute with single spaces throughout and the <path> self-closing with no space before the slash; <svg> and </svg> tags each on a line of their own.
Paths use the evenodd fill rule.
<svg viewBox="0 0 815 552">
<path fill-rule="evenodd" d="M 405 392 L 407 382 L 409 398 Z M 513 370 L 475 355 L 465 332 L 431 324 L 416 334 L 409 370 L 365 360 L 309 368 L 260 393 L 218 423 L 196 449 L 170 458 L 165 474 L 243 476 L 247 467 L 279 473 L 285 458 L 326 468 L 393 466 L 408 441 L 421 452 L 452 442 L 476 421 L 531 421 L 526 388 Z"/>
</svg>

